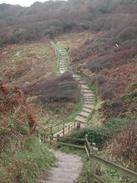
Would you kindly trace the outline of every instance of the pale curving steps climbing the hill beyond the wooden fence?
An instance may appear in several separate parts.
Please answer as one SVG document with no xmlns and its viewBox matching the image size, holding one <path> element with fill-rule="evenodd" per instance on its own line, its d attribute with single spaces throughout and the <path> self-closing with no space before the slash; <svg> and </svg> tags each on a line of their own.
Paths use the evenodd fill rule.
<svg viewBox="0 0 137 183">
<path fill-rule="evenodd" d="M 54 45 L 54 47 L 56 50 L 56 55 L 58 57 L 57 60 L 59 62 L 59 74 L 64 74 L 67 71 L 72 72 L 69 63 L 69 55 L 67 54 L 65 48 L 58 46 L 57 44 Z M 79 83 L 81 89 L 82 109 L 73 122 L 66 124 L 66 130 L 68 126 L 70 126 L 71 129 L 76 128 L 77 124 L 80 124 L 81 128 L 86 127 L 89 117 L 92 114 L 95 106 L 95 96 L 90 90 L 88 84 L 80 75 L 72 72 L 72 76 Z M 59 131 L 54 136 L 57 135 L 63 136 L 63 132 Z"/>
</svg>

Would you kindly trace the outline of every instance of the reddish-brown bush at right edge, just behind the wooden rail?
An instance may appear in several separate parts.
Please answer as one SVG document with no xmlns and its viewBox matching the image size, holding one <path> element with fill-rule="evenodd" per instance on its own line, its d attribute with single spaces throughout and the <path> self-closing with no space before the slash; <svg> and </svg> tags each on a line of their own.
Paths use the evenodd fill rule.
<svg viewBox="0 0 137 183">
<path fill-rule="evenodd" d="M 122 129 L 111 141 L 112 155 L 124 157 L 128 160 L 128 166 L 137 168 L 137 122 L 131 122 Z"/>
</svg>

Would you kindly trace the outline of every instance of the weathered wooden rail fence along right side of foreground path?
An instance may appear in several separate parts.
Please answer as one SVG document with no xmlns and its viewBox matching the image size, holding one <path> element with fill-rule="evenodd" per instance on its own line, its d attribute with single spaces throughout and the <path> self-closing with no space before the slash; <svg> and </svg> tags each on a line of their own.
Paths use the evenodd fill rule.
<svg viewBox="0 0 137 183">
<path fill-rule="evenodd" d="M 90 164 L 89 171 L 87 172 L 88 183 L 110 183 L 103 177 L 103 174 L 100 176 L 97 175 L 98 165 L 100 165 L 100 167 L 103 166 L 109 169 L 114 169 L 121 177 L 129 177 L 133 180 L 133 183 L 137 183 L 137 172 L 96 155 L 97 148 L 95 147 L 95 144 L 91 145 L 87 138 L 78 139 L 71 137 L 58 137 L 56 140 L 60 146 L 79 148 L 85 151 Z"/>
</svg>

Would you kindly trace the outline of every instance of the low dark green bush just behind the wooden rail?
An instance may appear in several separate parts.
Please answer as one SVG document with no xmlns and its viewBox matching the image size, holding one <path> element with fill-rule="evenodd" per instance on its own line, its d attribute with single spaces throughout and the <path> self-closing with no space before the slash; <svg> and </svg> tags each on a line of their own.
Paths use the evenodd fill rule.
<svg viewBox="0 0 137 183">
<path fill-rule="evenodd" d="M 99 128 L 84 128 L 74 131 L 70 136 L 73 138 L 87 137 L 90 143 L 95 143 L 101 149 L 114 134 L 118 133 L 128 124 L 126 118 L 112 118 Z"/>
</svg>

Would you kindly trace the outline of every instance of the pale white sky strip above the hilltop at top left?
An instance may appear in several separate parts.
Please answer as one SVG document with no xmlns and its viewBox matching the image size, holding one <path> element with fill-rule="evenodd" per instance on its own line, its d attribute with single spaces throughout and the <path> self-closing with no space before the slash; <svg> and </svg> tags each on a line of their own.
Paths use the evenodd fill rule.
<svg viewBox="0 0 137 183">
<path fill-rule="evenodd" d="M 7 4 L 19 4 L 21 6 L 30 6 L 36 1 L 45 2 L 47 0 L 0 0 L 0 4 L 7 3 Z"/>
</svg>

